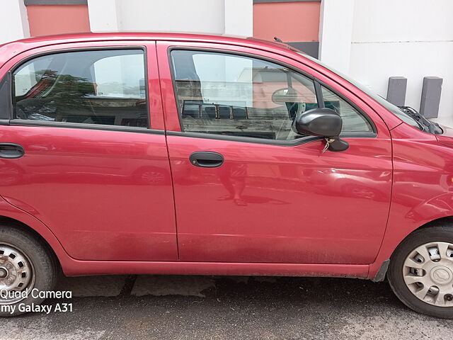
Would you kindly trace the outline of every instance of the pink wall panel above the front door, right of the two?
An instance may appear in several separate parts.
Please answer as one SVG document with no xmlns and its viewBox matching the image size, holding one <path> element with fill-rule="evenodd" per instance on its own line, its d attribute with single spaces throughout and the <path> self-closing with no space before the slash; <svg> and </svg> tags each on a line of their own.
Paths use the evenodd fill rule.
<svg viewBox="0 0 453 340">
<path fill-rule="evenodd" d="M 253 36 L 283 41 L 319 40 L 319 1 L 253 5 Z"/>
</svg>

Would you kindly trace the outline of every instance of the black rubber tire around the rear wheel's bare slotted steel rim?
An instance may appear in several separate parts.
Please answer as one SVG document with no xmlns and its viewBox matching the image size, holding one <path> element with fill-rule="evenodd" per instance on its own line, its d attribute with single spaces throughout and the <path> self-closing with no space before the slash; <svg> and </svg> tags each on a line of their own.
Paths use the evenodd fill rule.
<svg viewBox="0 0 453 340">
<path fill-rule="evenodd" d="M 48 246 L 41 242 L 33 234 L 24 231 L 21 227 L 15 225 L 0 224 L 0 245 L 11 246 L 26 256 L 33 267 L 33 288 L 40 291 L 50 291 L 55 288 L 57 273 L 59 266 Z M 30 287 L 30 289 L 33 289 Z M 18 310 L 19 304 L 40 305 L 44 299 L 28 295 L 24 300 L 16 302 L 16 310 L 11 313 L 11 310 L 1 310 L 0 317 L 13 317 L 20 314 L 25 314 Z M 4 300 L 5 301 L 5 300 Z M 0 307 L 2 307 L 2 299 L 0 297 Z"/>
</svg>

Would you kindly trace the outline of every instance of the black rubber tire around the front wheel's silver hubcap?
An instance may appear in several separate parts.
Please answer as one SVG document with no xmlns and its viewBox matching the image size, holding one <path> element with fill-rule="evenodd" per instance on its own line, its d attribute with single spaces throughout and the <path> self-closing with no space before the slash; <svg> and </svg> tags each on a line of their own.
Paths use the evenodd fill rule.
<svg viewBox="0 0 453 340">
<path fill-rule="evenodd" d="M 434 227 L 418 229 L 406 237 L 391 256 L 387 278 L 389 279 L 391 289 L 399 300 L 401 300 L 404 305 L 415 310 L 415 312 L 430 315 L 431 317 L 453 319 L 453 307 L 438 307 L 420 300 L 413 295 L 404 282 L 403 263 L 406 260 L 406 257 L 418 246 L 430 242 L 448 242 L 453 244 L 453 224 L 443 223 L 442 225 L 436 225 Z M 453 264 L 450 269 L 453 271 Z M 453 285 L 453 283 L 451 284 Z"/>
</svg>

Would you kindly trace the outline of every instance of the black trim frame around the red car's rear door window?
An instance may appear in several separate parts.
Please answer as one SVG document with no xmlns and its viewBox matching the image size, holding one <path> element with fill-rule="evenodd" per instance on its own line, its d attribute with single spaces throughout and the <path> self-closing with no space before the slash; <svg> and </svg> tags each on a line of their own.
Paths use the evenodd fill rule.
<svg viewBox="0 0 453 340">
<path fill-rule="evenodd" d="M 150 40 L 151 41 L 151 40 Z M 127 127 L 123 125 L 97 125 L 97 124 L 84 124 L 84 123 L 65 123 L 65 122 L 48 122 L 46 120 L 21 120 L 17 119 L 14 116 L 14 107 L 13 107 L 13 72 L 16 71 L 19 67 L 21 67 L 26 62 L 33 60 L 37 57 L 42 57 L 45 55 L 55 55 L 58 53 L 67 53 L 67 52 L 86 52 L 86 51 L 97 51 L 97 50 L 142 50 L 143 51 L 143 58 L 144 58 L 144 77 L 145 77 L 145 91 L 146 91 L 146 101 L 147 101 L 147 128 L 137 128 L 137 127 Z M 80 128 L 88 129 L 88 130 L 113 130 L 113 131 L 125 131 L 125 132 L 140 132 L 143 133 L 143 130 L 151 130 L 154 131 L 162 131 L 164 134 L 164 130 L 154 130 L 151 129 L 151 108 L 149 105 L 149 74 L 148 74 L 148 57 L 147 57 L 147 46 L 145 45 L 112 45 L 112 46 L 93 46 L 93 47 L 70 47 L 70 48 L 60 48 L 58 50 L 48 50 L 44 52 L 38 52 L 34 55 L 29 55 L 28 57 L 23 58 L 23 60 L 16 62 L 16 64 L 11 67 L 11 69 L 7 73 L 8 76 L 8 88 L 9 88 L 9 122 L 8 124 L 11 125 L 32 125 L 32 126 L 52 126 L 52 127 L 62 127 L 59 123 L 64 124 L 68 128 Z M 22 122 L 28 122 L 24 124 Z M 0 120 L 0 125 L 1 124 Z M 3 124 L 7 125 L 7 124 Z M 95 128 L 88 128 L 88 125 L 93 125 Z M 103 128 L 101 128 L 101 126 Z M 116 127 L 119 127 L 117 129 Z M 122 129 L 125 128 L 125 129 Z"/>
</svg>

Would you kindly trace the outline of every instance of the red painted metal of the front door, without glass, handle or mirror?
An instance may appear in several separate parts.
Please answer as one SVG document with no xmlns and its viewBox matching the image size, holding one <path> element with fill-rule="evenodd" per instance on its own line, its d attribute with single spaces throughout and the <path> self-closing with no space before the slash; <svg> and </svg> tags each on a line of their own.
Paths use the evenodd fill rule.
<svg viewBox="0 0 453 340">
<path fill-rule="evenodd" d="M 343 89 L 343 94 L 374 117 L 378 136 L 345 138 L 350 147 L 338 153 L 321 153 L 321 141 L 290 147 L 260 144 L 259 140 L 253 143 L 216 140 L 209 135 L 171 135 L 170 130 L 181 129 L 168 71 L 168 49 L 178 47 L 249 53 L 315 74 L 302 63 L 272 52 L 219 44 L 157 42 L 180 260 L 374 261 L 384 237 L 391 193 L 391 140 L 379 115 Z M 316 76 L 328 82 L 321 74 Z M 216 169 L 192 166 L 190 154 L 198 151 L 218 152 L 225 162 Z M 239 190 L 246 206 L 224 200 Z"/>
</svg>

